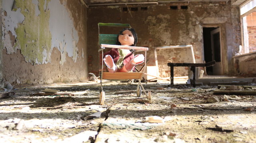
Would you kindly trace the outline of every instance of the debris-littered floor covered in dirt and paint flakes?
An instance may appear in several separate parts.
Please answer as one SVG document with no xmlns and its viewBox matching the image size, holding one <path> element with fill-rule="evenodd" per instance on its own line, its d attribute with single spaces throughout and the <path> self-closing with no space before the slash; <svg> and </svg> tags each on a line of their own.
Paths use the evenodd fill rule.
<svg viewBox="0 0 256 143">
<path fill-rule="evenodd" d="M 255 143 L 256 95 L 213 95 L 217 86 L 55 84 L 2 91 L 1 143 Z M 44 94 L 44 89 L 57 94 Z M 254 86 L 252 90 L 255 91 Z M 149 123 L 148 116 L 163 123 Z"/>
</svg>

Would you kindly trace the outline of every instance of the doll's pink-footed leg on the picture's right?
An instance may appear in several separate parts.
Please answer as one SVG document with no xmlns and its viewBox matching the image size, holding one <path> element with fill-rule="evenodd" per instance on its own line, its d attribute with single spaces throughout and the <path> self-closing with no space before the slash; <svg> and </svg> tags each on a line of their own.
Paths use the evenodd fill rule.
<svg viewBox="0 0 256 143">
<path fill-rule="evenodd" d="M 123 66 L 123 68 L 121 68 L 121 70 L 119 70 L 119 72 L 130 72 L 131 70 L 133 70 L 133 68 L 144 62 L 144 56 L 143 54 L 137 54 L 133 59 L 131 59 L 127 64 L 125 64 Z"/>
</svg>

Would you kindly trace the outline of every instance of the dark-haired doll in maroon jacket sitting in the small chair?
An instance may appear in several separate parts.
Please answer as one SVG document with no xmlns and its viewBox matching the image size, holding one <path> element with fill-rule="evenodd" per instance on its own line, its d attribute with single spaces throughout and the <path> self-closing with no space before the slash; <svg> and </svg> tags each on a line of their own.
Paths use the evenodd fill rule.
<svg viewBox="0 0 256 143">
<path fill-rule="evenodd" d="M 134 29 L 122 29 L 117 35 L 117 45 L 136 46 L 138 37 Z M 134 56 L 130 50 L 112 48 L 103 54 L 103 61 L 107 66 L 107 70 L 111 73 L 115 72 L 131 72 L 136 65 L 144 62 L 143 54 Z"/>
</svg>

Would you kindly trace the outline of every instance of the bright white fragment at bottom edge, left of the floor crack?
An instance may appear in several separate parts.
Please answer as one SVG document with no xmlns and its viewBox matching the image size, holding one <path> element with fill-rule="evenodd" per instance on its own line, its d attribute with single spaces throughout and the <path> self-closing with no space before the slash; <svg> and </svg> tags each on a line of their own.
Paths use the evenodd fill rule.
<svg viewBox="0 0 256 143">
<path fill-rule="evenodd" d="M 95 135 L 97 135 L 97 131 L 83 131 L 72 137 L 65 138 L 63 141 L 59 141 L 59 143 L 84 143 L 89 137 L 93 137 L 95 139 Z"/>
</svg>

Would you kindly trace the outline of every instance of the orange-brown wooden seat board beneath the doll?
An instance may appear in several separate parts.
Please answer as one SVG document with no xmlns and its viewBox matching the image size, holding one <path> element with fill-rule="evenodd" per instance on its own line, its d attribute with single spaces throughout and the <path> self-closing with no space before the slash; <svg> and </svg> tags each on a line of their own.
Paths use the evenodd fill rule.
<svg viewBox="0 0 256 143">
<path fill-rule="evenodd" d="M 141 79 L 143 72 L 103 72 L 102 79 Z"/>
</svg>

